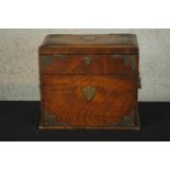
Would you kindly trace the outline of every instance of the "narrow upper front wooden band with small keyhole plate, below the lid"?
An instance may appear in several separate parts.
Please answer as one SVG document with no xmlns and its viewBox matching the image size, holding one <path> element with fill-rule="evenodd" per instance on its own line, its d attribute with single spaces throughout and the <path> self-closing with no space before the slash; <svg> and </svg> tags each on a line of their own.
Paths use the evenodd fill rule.
<svg viewBox="0 0 170 170">
<path fill-rule="evenodd" d="M 45 65 L 43 61 L 50 60 Z M 87 63 L 89 59 L 89 63 Z M 136 55 L 44 55 L 41 57 L 42 73 L 118 73 L 137 72 Z"/>
</svg>

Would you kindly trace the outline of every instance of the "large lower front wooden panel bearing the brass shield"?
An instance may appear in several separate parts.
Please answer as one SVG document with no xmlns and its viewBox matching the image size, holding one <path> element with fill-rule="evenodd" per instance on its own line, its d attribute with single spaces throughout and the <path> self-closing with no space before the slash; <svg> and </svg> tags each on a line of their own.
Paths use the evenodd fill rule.
<svg viewBox="0 0 170 170">
<path fill-rule="evenodd" d="M 44 126 L 133 126 L 137 80 L 132 75 L 43 75 Z"/>
</svg>

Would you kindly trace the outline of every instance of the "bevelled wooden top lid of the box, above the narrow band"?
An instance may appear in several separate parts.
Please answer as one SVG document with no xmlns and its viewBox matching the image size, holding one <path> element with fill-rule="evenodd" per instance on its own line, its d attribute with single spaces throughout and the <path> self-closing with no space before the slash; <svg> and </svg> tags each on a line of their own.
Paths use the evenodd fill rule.
<svg viewBox="0 0 170 170">
<path fill-rule="evenodd" d="M 47 35 L 39 54 L 138 54 L 134 34 Z"/>
</svg>

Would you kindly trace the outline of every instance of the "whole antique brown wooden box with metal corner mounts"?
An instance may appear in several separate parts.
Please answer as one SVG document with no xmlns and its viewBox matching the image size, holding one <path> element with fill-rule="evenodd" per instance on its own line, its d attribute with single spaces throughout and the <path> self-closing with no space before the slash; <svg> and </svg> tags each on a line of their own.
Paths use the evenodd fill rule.
<svg viewBox="0 0 170 170">
<path fill-rule="evenodd" d="M 38 52 L 41 129 L 139 129 L 135 35 L 48 35 Z"/>
</svg>

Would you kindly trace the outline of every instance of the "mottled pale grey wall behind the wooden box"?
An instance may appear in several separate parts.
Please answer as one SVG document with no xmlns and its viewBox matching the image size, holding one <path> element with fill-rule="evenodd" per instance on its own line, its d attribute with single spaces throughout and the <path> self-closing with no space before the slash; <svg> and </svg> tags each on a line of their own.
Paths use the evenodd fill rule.
<svg viewBox="0 0 170 170">
<path fill-rule="evenodd" d="M 139 101 L 170 101 L 170 30 L 0 30 L 0 100 L 39 100 L 37 48 L 47 34 L 135 33 Z"/>
</svg>

